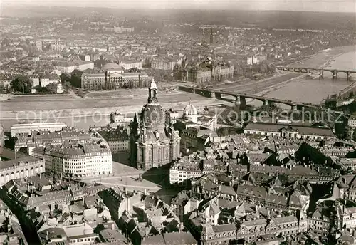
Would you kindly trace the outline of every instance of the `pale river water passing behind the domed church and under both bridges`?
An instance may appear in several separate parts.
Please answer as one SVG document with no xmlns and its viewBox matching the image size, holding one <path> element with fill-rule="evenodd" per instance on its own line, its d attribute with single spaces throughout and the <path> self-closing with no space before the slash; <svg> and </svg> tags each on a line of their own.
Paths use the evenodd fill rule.
<svg viewBox="0 0 356 245">
<path fill-rule="evenodd" d="M 314 68 L 330 66 L 330 64 L 333 64 L 335 58 L 342 56 L 342 54 L 347 53 L 350 50 L 355 51 L 355 49 L 355 46 L 346 46 L 335 48 L 330 51 L 323 51 L 315 54 L 313 57 L 306 58 L 301 63 L 299 63 L 298 66 Z M 288 76 L 286 76 L 286 78 L 288 78 Z M 315 101 L 311 101 L 310 99 L 305 98 L 305 96 L 299 96 L 300 98 L 295 99 L 295 96 L 293 98 L 293 94 L 304 87 L 306 88 L 306 90 L 309 90 L 309 92 L 311 91 L 312 94 L 310 96 L 315 97 L 315 91 L 313 91 L 313 84 L 315 85 L 316 83 L 320 83 L 318 85 L 328 87 L 328 83 L 330 82 L 327 80 L 306 80 L 305 74 L 301 74 L 296 78 L 288 78 L 288 80 L 285 81 L 282 80 L 281 82 L 278 82 L 278 84 L 276 84 L 276 82 L 273 82 L 273 79 L 281 80 L 281 77 L 276 76 L 274 78 L 271 78 L 271 80 L 263 81 L 263 83 L 261 83 L 261 86 L 251 88 L 250 90 L 248 90 L 248 93 L 252 93 L 255 95 L 265 95 L 266 97 L 271 98 L 293 100 L 297 102 L 299 102 L 298 100 L 301 100 L 303 102 L 315 103 Z M 339 83 L 342 83 L 342 81 L 337 80 L 337 83 L 330 83 L 331 87 L 337 87 L 335 87 L 333 91 L 339 91 L 342 90 L 342 88 L 347 87 L 347 83 L 338 86 Z M 288 85 L 293 85 L 293 88 L 288 87 Z M 350 83 L 348 85 L 350 85 Z M 319 89 L 317 87 L 315 87 L 315 89 Z M 280 90 L 283 88 L 285 90 L 281 92 Z M 327 90 L 323 93 L 330 93 L 330 90 Z M 63 99 L 63 101 L 61 101 L 61 99 L 51 100 L 46 98 L 45 100 L 43 100 L 43 98 L 39 98 L 36 100 L 36 98 L 33 98 L 29 101 L 0 101 L 1 121 L 15 121 L 16 123 L 16 121 L 19 120 L 33 120 L 40 118 L 46 120 L 66 119 L 72 121 L 75 120 L 75 118 L 91 118 L 91 121 L 88 123 L 90 123 L 90 125 L 93 125 L 93 123 L 95 123 L 95 120 L 93 120 L 94 116 L 100 118 L 101 115 L 101 118 L 108 118 L 108 115 L 110 115 L 110 113 L 112 113 L 112 111 L 114 110 L 118 110 L 120 113 L 134 113 L 135 111 L 140 110 L 142 108 L 142 105 L 145 105 L 147 101 L 144 97 L 132 97 L 133 98 L 80 98 L 78 100 L 67 98 L 67 100 Z M 192 103 L 197 106 L 218 105 L 224 103 L 221 100 L 215 101 L 209 98 L 204 98 L 188 93 L 172 93 L 170 95 L 167 93 L 163 93 L 162 95 L 160 95 L 159 102 L 164 108 L 177 109 L 180 107 L 184 107 L 184 102 L 189 101 L 190 98 L 194 98 L 194 101 Z M 53 110 L 53 108 L 56 109 Z M 80 123 L 83 123 L 83 120 L 78 121 L 80 121 Z M 80 123 L 70 123 L 69 125 L 77 126 L 80 125 Z"/>
</svg>

